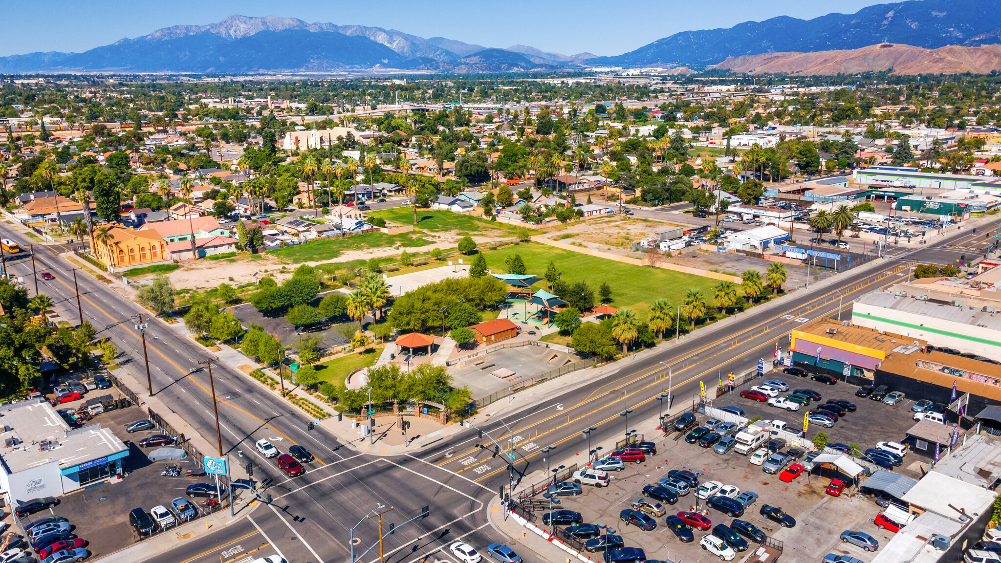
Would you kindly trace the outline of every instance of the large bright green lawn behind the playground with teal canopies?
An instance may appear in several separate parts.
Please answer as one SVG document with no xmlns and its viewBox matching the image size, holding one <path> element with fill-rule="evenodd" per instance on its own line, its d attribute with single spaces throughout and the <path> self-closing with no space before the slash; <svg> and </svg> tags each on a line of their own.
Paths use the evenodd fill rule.
<svg viewBox="0 0 1001 563">
<path fill-rule="evenodd" d="M 712 310 L 716 279 L 650 267 L 633 265 L 607 258 L 590 256 L 580 252 L 555 248 L 540 242 L 526 242 L 517 246 L 483 252 L 486 264 L 492 271 L 505 271 L 505 257 L 522 254 L 529 273 L 542 277 L 550 260 L 563 271 L 562 279 L 569 283 L 584 279 L 595 290 L 603 282 L 612 287 L 612 307 L 631 308 L 641 321 L 646 321 L 650 305 L 658 298 L 666 298 L 673 306 L 682 304 L 685 293 L 690 289 L 702 292 L 707 305 Z M 546 280 L 536 284 L 535 289 L 545 290 Z"/>
</svg>

